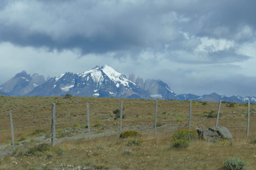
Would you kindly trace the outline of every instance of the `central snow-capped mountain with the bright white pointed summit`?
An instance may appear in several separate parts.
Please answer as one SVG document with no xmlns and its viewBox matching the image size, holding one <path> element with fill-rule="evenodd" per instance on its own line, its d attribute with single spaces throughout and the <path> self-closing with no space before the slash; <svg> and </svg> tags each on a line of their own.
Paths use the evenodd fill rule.
<svg viewBox="0 0 256 170">
<path fill-rule="evenodd" d="M 65 73 L 36 87 L 28 96 L 71 94 L 85 97 L 151 98 L 134 82 L 113 68 L 96 66 L 81 74 Z"/>
</svg>

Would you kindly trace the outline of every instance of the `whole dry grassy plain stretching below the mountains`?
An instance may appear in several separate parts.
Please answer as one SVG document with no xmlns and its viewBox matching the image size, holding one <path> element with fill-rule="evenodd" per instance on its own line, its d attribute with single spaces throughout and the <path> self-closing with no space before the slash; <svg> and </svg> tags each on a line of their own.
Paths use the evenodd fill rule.
<svg viewBox="0 0 256 170">
<path fill-rule="evenodd" d="M 143 141 L 139 146 L 127 146 L 131 139 L 119 138 L 119 120 L 114 119 L 113 110 L 120 108 L 121 100 L 126 115 L 123 130 L 139 132 Z M 87 140 L 86 102 L 90 104 L 91 141 Z M 30 147 L 51 143 L 51 103 L 56 103 L 57 145 L 51 154 L 19 155 Z M 193 101 L 192 129 L 215 126 L 216 119 L 208 115 L 217 109 L 217 102 Z M 11 147 L 9 110 L 16 151 Z M 0 169 L 219 169 L 225 158 L 234 156 L 246 160 L 248 169 L 256 167 L 256 145 L 250 143 L 256 133 L 254 104 L 249 138 L 245 137 L 247 104 L 224 102 L 219 126 L 229 129 L 232 145 L 196 140 L 186 149 L 172 148 L 172 133 L 188 129 L 188 110 L 189 101 L 159 100 L 154 138 L 154 100 L 0 96 Z M 58 148 L 65 148 L 62 154 L 54 152 Z"/>
</svg>

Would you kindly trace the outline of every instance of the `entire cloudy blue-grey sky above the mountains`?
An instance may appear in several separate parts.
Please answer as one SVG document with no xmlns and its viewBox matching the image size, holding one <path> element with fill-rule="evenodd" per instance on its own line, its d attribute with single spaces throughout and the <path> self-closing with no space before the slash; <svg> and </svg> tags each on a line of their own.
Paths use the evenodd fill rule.
<svg viewBox="0 0 256 170">
<path fill-rule="evenodd" d="M 0 84 L 107 64 L 176 94 L 256 96 L 255 0 L 1 0 Z"/>
</svg>

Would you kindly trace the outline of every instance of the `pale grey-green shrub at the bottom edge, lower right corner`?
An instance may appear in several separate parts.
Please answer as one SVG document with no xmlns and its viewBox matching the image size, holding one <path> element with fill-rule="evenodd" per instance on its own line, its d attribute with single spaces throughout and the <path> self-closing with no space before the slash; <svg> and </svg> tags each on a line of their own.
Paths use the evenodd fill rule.
<svg viewBox="0 0 256 170">
<path fill-rule="evenodd" d="M 223 162 L 224 168 L 227 170 L 239 170 L 244 169 L 247 166 L 247 162 L 238 157 L 227 158 Z"/>
</svg>

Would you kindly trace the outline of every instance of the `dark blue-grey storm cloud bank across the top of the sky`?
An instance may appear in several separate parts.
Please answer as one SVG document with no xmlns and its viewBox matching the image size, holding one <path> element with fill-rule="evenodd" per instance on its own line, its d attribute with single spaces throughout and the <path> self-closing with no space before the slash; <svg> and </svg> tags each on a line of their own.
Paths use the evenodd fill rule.
<svg viewBox="0 0 256 170">
<path fill-rule="evenodd" d="M 141 51 L 180 51 L 204 55 L 197 63 L 227 63 L 249 57 L 230 49 L 195 54 L 200 38 L 255 41 L 256 1 L 4 1 L 0 42 L 48 50 L 78 49 L 82 55 L 115 52 L 137 57 Z M 184 36 L 188 34 L 188 38 Z M 177 52 L 179 51 L 179 53 Z M 187 55 L 186 53 L 181 53 Z M 233 58 L 233 60 L 230 60 Z M 193 60 L 178 59 L 178 62 Z"/>
</svg>

